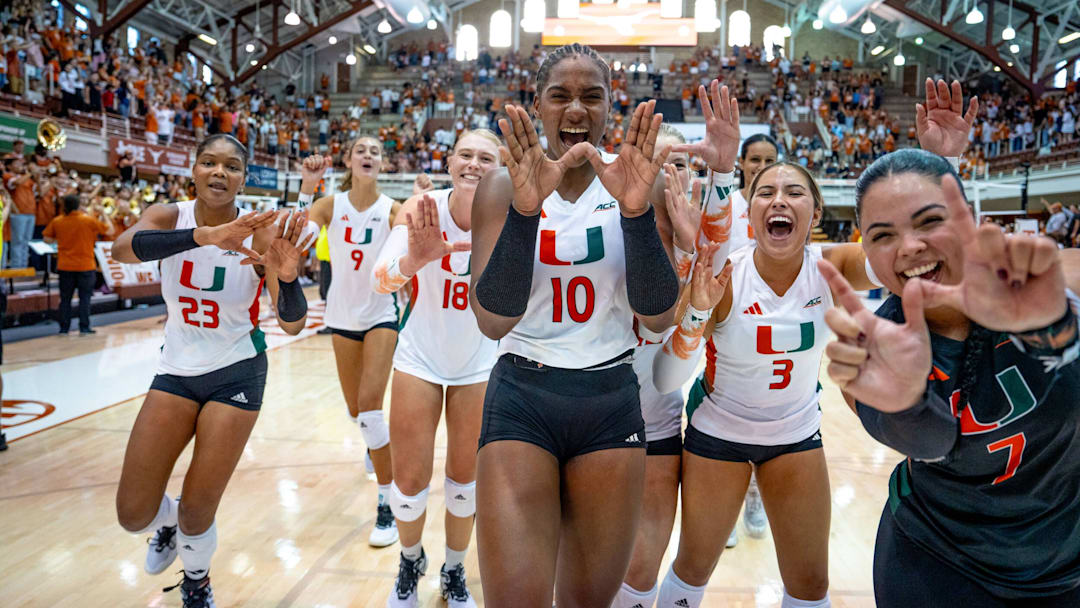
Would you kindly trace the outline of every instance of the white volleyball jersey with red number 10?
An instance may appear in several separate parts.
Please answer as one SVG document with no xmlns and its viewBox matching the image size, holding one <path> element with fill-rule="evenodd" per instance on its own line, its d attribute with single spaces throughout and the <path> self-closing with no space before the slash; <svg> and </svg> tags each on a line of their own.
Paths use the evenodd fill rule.
<svg viewBox="0 0 1080 608">
<path fill-rule="evenodd" d="M 500 352 L 580 369 L 634 348 L 620 217 L 598 177 L 575 203 L 544 199 L 528 308 Z"/>
</svg>

